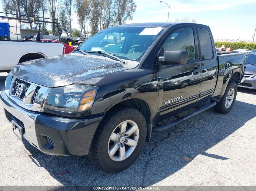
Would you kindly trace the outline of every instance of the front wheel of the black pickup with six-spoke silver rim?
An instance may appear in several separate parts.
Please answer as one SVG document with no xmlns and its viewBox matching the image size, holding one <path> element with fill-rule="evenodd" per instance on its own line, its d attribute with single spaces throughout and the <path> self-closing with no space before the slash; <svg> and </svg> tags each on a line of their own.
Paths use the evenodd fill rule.
<svg viewBox="0 0 256 191">
<path fill-rule="evenodd" d="M 125 123 L 127 123 L 127 125 L 125 125 Z M 134 127 L 134 124 L 137 125 L 137 127 L 135 127 L 138 129 L 131 134 L 131 136 L 123 136 L 128 134 L 120 133 L 120 124 L 124 125 L 124 128 L 126 129 L 125 132 L 128 132 L 127 130 L 130 130 L 131 127 Z M 110 140 L 112 134 L 119 136 L 118 141 Z M 115 107 L 106 114 L 105 118 L 101 122 L 101 125 L 98 127 L 92 141 L 89 157 L 99 168 L 106 172 L 117 173 L 125 170 L 131 164 L 133 164 L 140 155 L 146 140 L 146 134 L 146 121 L 143 114 L 139 110 L 124 105 Z M 136 140 L 136 146 L 126 145 L 128 142 L 131 144 L 131 142 L 128 141 L 131 139 L 133 139 L 132 143 L 134 143 Z M 113 149 L 114 151 L 111 150 L 111 148 L 114 148 L 114 146 L 117 145 L 118 149 L 116 151 L 115 149 Z M 125 148 L 125 155 L 121 154 L 120 149 L 122 148 Z M 122 151 L 124 151 L 123 149 Z"/>
</svg>

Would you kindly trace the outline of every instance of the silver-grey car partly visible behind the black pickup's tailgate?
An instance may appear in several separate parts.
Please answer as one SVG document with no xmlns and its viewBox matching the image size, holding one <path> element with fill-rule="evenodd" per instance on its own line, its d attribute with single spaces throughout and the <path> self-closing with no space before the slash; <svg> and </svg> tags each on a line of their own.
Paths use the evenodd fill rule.
<svg viewBox="0 0 256 191">
<path fill-rule="evenodd" d="M 256 90 L 256 53 L 248 54 L 244 66 L 246 79 L 239 86 Z"/>
</svg>

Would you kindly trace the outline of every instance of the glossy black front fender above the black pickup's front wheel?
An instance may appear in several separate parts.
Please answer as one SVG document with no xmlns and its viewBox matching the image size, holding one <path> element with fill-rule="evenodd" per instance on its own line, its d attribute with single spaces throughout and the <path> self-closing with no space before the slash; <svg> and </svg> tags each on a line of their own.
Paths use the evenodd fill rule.
<svg viewBox="0 0 256 191">
<path fill-rule="evenodd" d="M 116 104 L 130 99 L 143 100 L 149 107 L 151 119 L 157 113 L 159 77 L 154 66 L 143 66 L 101 76 L 95 102 L 88 115 L 106 113 Z M 93 79 L 91 80 L 93 81 Z M 85 81 L 83 82 L 84 84 Z"/>
</svg>

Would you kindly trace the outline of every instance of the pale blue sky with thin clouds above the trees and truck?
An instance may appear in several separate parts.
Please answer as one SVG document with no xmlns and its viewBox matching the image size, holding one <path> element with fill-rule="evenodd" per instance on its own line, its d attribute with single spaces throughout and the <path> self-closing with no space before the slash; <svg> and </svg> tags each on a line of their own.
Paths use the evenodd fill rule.
<svg viewBox="0 0 256 191">
<path fill-rule="evenodd" d="M 168 6 L 157 0 L 134 0 L 137 9 L 133 20 L 138 22 L 166 22 Z M 256 0 L 164 0 L 170 6 L 169 22 L 188 17 L 211 27 L 214 39 L 251 40 L 256 27 Z M 2 0 L 0 0 L 2 11 Z M 72 28 L 79 28 L 75 12 Z M 255 38 L 256 39 L 256 38 Z"/>
</svg>

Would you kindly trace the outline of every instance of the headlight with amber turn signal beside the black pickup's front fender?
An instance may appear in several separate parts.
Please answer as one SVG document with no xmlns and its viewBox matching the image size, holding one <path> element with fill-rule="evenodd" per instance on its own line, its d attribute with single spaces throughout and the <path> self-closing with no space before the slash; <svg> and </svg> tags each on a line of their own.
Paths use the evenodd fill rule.
<svg viewBox="0 0 256 191">
<path fill-rule="evenodd" d="M 78 113 L 90 110 L 97 93 L 97 87 L 68 85 L 52 88 L 46 100 L 45 108 Z"/>
</svg>

